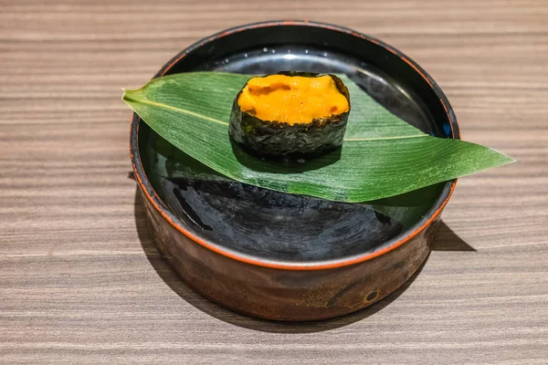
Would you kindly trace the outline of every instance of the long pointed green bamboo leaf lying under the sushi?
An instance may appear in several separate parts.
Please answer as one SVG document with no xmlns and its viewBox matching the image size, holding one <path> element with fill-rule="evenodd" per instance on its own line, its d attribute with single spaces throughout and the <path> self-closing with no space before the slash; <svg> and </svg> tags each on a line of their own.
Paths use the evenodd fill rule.
<svg viewBox="0 0 548 365">
<path fill-rule="evenodd" d="M 270 162 L 234 149 L 228 120 L 248 76 L 191 72 L 156 78 L 123 100 L 166 141 L 242 183 L 333 201 L 377 200 L 513 162 L 467 141 L 430 137 L 344 79 L 352 111 L 341 151 L 305 163 Z"/>
</svg>

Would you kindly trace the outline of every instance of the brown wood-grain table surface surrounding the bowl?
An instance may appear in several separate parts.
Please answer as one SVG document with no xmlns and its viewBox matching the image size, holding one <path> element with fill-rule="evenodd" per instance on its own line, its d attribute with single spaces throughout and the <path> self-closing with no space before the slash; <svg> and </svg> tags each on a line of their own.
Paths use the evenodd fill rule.
<svg viewBox="0 0 548 365">
<path fill-rule="evenodd" d="M 174 275 L 121 102 L 197 39 L 280 18 L 399 48 L 464 138 L 519 161 L 459 180 L 405 287 L 309 324 L 235 314 Z M 0 0 L 0 362 L 548 363 L 548 2 Z"/>
</svg>

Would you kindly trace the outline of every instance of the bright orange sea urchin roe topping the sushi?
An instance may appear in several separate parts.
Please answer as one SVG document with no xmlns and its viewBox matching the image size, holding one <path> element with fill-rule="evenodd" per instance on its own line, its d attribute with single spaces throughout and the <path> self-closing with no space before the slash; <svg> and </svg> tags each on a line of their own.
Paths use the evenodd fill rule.
<svg viewBox="0 0 548 365">
<path fill-rule="evenodd" d="M 290 125 L 342 114 L 350 108 L 332 77 L 327 75 L 251 78 L 237 103 L 241 110 L 260 120 L 277 120 Z"/>
</svg>

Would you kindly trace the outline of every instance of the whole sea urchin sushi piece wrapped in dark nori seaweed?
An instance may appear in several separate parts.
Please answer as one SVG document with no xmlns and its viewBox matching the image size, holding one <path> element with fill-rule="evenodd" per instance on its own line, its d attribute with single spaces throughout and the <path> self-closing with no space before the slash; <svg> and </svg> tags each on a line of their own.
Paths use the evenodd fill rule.
<svg viewBox="0 0 548 365">
<path fill-rule="evenodd" d="M 313 157 L 342 146 L 349 114 L 340 78 L 280 72 L 248 80 L 234 100 L 228 132 L 259 157 Z"/>
</svg>

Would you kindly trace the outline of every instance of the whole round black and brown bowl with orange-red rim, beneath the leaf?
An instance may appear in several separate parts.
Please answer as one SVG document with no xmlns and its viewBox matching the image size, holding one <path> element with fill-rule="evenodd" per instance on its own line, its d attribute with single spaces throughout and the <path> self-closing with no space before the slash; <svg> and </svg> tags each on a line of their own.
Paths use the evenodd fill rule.
<svg viewBox="0 0 548 365">
<path fill-rule="evenodd" d="M 344 73 L 420 130 L 459 138 L 448 100 L 394 47 L 339 26 L 240 26 L 184 49 L 156 75 L 216 70 Z M 377 202 L 334 203 L 193 174 L 195 162 L 135 114 L 131 153 L 160 251 L 228 308 L 283 320 L 339 316 L 385 297 L 429 253 L 456 181 Z M 365 156 L 364 156 L 365 158 Z"/>
</svg>

